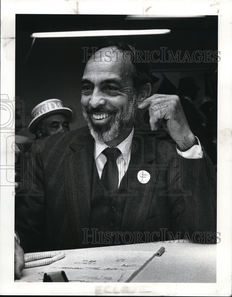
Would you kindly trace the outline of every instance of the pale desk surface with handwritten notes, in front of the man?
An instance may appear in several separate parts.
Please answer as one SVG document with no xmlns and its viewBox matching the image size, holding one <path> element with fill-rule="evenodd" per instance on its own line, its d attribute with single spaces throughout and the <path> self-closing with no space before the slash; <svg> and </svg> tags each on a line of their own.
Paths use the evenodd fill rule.
<svg viewBox="0 0 232 297">
<path fill-rule="evenodd" d="M 216 244 L 188 241 L 65 250 L 63 259 L 26 268 L 15 282 L 42 282 L 45 272 L 61 270 L 70 282 L 126 282 L 160 247 L 165 252 L 149 261 L 131 282 L 216 282 Z"/>
</svg>

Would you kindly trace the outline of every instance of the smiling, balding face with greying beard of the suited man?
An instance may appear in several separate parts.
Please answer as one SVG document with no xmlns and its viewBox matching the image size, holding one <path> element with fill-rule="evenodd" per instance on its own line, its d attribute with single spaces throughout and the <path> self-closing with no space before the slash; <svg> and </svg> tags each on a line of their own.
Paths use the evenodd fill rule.
<svg viewBox="0 0 232 297">
<path fill-rule="evenodd" d="M 103 56 L 104 53 L 112 53 L 111 59 Z M 84 71 L 83 114 L 93 138 L 100 141 L 122 141 L 133 127 L 133 110 L 124 110 L 124 103 L 136 94 L 135 69 L 132 63 L 123 61 L 125 55 L 128 54 L 120 54 L 116 47 L 103 48 L 89 60 Z"/>
</svg>

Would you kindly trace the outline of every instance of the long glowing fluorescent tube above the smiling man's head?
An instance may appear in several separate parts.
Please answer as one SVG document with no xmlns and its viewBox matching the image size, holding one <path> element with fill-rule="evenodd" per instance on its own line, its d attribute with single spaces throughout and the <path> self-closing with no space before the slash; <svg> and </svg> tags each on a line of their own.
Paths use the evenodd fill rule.
<svg viewBox="0 0 232 297">
<path fill-rule="evenodd" d="M 33 33 L 31 37 L 91 37 L 91 36 L 116 36 L 116 35 L 150 35 L 166 34 L 169 29 L 151 29 L 151 30 L 95 30 L 95 31 L 68 31 L 68 32 L 41 32 Z"/>
</svg>

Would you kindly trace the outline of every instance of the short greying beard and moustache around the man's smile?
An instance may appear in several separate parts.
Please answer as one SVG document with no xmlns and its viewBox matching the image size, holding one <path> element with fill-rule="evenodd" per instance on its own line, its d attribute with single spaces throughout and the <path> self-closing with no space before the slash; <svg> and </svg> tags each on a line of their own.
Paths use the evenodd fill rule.
<svg viewBox="0 0 232 297">
<path fill-rule="evenodd" d="M 127 108 L 124 113 L 120 113 L 118 108 L 104 109 L 104 108 L 84 108 L 82 106 L 84 119 L 87 121 L 90 133 L 95 140 L 107 142 L 117 138 L 127 127 L 127 124 L 134 117 L 134 109 Z M 92 123 L 91 113 L 113 113 L 114 118 L 106 124 L 95 125 Z M 124 139 L 121 139 L 124 140 Z"/>
</svg>

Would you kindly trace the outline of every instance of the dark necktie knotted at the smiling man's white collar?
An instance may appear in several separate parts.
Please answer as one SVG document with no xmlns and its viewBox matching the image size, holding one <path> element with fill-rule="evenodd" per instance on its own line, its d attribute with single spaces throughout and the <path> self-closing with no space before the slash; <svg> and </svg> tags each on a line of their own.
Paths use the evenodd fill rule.
<svg viewBox="0 0 232 297">
<path fill-rule="evenodd" d="M 102 153 L 107 161 L 102 170 L 101 182 L 106 191 L 113 191 L 118 188 L 119 184 L 119 170 L 116 159 L 121 155 L 121 151 L 116 147 L 108 147 Z"/>
</svg>

